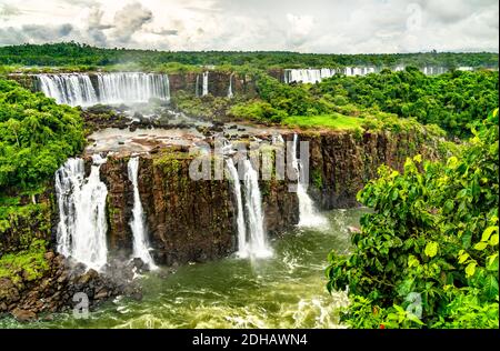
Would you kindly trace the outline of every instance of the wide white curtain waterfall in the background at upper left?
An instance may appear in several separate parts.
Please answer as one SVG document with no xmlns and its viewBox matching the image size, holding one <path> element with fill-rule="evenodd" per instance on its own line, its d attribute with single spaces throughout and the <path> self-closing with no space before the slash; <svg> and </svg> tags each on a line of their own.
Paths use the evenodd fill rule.
<svg viewBox="0 0 500 351">
<path fill-rule="evenodd" d="M 40 90 L 58 103 L 92 106 L 170 99 L 167 74 L 142 72 L 37 74 Z M 94 78 L 94 79 L 93 79 Z M 93 82 L 92 82 L 93 80 Z"/>
</svg>

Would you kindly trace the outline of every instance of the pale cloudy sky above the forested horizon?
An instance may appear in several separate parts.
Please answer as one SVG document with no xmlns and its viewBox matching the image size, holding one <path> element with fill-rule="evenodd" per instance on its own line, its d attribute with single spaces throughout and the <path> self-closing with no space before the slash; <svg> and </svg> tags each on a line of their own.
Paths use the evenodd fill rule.
<svg viewBox="0 0 500 351">
<path fill-rule="evenodd" d="M 161 50 L 499 50 L 497 0 L 0 0 L 0 46 Z"/>
</svg>

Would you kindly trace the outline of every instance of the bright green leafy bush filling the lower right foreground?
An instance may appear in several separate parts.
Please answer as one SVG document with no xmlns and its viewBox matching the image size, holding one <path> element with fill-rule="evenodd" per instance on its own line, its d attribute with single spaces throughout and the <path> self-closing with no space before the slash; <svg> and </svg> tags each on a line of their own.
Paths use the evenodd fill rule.
<svg viewBox="0 0 500 351">
<path fill-rule="evenodd" d="M 498 109 L 446 163 L 408 159 L 358 194 L 374 210 L 333 251 L 328 289 L 349 287 L 353 328 L 498 328 Z"/>
</svg>

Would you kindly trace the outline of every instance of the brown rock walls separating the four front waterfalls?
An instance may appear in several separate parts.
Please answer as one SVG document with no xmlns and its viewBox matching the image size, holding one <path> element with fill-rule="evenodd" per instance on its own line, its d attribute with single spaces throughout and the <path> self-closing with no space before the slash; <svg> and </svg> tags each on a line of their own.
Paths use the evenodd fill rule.
<svg viewBox="0 0 500 351">
<path fill-rule="evenodd" d="M 101 168 L 108 185 L 109 249 L 131 253 L 128 222 L 133 189 L 127 178 L 128 157 L 109 157 Z M 207 261 L 236 251 L 236 199 L 228 180 L 191 180 L 191 158 L 183 153 L 140 158 L 139 191 L 149 241 L 157 263 Z M 123 178 L 123 174 L 126 178 Z M 116 183 L 119 185 L 116 185 Z M 298 203 L 284 181 L 261 181 L 266 227 L 277 233 L 298 222 Z"/>
</svg>

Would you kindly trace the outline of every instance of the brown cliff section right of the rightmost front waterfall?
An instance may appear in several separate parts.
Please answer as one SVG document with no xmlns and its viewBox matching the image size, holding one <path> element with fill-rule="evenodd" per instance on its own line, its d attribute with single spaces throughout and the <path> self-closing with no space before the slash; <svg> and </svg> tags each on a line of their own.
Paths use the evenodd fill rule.
<svg viewBox="0 0 500 351">
<path fill-rule="evenodd" d="M 412 131 L 304 132 L 300 140 L 309 141 L 309 193 L 323 210 L 358 205 L 356 194 L 381 164 L 401 171 L 408 157 L 439 158 L 436 141 Z"/>
</svg>

